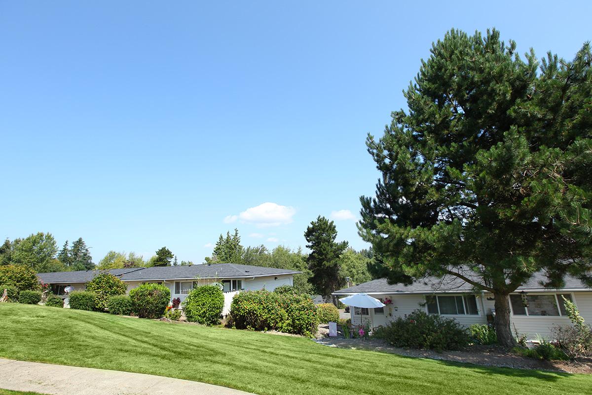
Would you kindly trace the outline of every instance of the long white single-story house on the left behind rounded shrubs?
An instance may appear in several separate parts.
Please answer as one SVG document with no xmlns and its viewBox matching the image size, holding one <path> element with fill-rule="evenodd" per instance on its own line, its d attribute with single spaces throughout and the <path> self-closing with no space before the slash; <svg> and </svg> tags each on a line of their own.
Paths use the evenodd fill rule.
<svg viewBox="0 0 592 395">
<path fill-rule="evenodd" d="M 75 291 L 83 291 L 100 270 L 82 270 L 76 272 L 39 273 L 37 277 L 44 284 L 52 287 L 54 294 L 65 296 L 65 288 L 71 286 Z M 223 285 L 224 309 L 226 316 L 230 311 L 232 298 L 243 290 L 275 290 L 281 285 L 294 285 L 293 275 L 299 271 L 265 268 L 239 264 L 204 264 L 187 266 L 155 266 L 151 268 L 110 269 L 111 274 L 127 284 L 127 291 L 140 284 L 156 282 L 164 284 L 170 290 L 171 300 L 185 300 L 189 292 L 198 285 L 219 282 Z"/>
</svg>

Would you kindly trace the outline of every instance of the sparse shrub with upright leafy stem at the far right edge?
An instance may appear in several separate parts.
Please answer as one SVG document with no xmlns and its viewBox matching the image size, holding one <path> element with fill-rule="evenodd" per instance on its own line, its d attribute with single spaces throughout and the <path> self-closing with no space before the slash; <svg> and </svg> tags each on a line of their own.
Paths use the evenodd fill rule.
<svg viewBox="0 0 592 395">
<path fill-rule="evenodd" d="M 563 297 L 571 326 L 554 327 L 552 332 L 558 346 L 570 358 L 592 357 L 592 327 L 584 323 L 574 303 Z"/>
</svg>

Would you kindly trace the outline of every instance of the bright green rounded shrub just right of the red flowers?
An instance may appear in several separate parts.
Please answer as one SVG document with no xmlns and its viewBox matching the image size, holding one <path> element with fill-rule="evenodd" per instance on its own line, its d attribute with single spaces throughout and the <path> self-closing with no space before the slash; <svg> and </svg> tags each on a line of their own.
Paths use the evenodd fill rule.
<svg viewBox="0 0 592 395">
<path fill-rule="evenodd" d="M 191 291 L 182 304 L 189 322 L 218 325 L 224 308 L 224 294 L 220 287 L 202 285 Z"/>
</svg>

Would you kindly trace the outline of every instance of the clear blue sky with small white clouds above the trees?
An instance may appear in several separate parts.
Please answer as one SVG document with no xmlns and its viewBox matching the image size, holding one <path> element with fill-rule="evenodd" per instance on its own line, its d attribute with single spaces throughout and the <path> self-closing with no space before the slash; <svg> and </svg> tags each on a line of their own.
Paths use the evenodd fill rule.
<svg viewBox="0 0 592 395">
<path fill-rule="evenodd" d="M 590 2 L 0 0 L 0 237 L 83 237 L 202 262 L 220 233 L 356 249 L 378 177 L 366 133 L 450 28 L 570 58 Z M 264 203 L 268 203 L 262 205 Z M 351 213 L 351 214 L 350 214 Z"/>
</svg>

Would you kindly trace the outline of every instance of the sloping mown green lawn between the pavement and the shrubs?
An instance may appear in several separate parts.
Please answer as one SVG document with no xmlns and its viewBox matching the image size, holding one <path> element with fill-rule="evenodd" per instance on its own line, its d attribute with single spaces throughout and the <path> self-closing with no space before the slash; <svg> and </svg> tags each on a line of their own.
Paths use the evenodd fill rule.
<svg viewBox="0 0 592 395">
<path fill-rule="evenodd" d="M 261 395 L 584 394 L 592 376 L 488 368 L 310 339 L 0 304 L 0 357 L 185 378 Z"/>
</svg>

